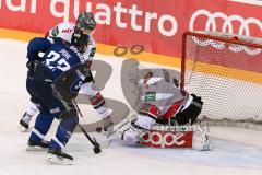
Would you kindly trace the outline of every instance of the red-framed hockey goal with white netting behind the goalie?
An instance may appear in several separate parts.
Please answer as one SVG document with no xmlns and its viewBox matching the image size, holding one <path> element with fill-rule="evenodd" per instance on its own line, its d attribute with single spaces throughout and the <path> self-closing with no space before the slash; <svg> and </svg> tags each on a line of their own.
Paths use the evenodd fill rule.
<svg viewBox="0 0 262 175">
<path fill-rule="evenodd" d="M 262 39 L 217 32 L 186 32 L 181 86 L 202 96 L 200 119 L 262 125 Z"/>
</svg>

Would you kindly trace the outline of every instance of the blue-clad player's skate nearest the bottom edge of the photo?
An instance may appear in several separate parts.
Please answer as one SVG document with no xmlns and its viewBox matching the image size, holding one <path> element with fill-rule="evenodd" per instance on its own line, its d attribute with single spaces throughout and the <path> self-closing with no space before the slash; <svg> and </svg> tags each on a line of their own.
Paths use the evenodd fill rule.
<svg viewBox="0 0 262 175">
<path fill-rule="evenodd" d="M 48 151 L 47 161 L 51 164 L 72 165 L 73 158 L 61 150 L 51 149 Z"/>
</svg>

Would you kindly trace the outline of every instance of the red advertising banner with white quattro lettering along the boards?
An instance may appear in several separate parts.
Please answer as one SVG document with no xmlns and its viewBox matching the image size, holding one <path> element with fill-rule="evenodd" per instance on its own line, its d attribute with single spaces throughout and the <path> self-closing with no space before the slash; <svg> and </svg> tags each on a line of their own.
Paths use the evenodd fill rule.
<svg viewBox="0 0 262 175">
<path fill-rule="evenodd" d="M 75 22 L 80 11 L 97 21 L 97 43 L 142 45 L 145 51 L 180 57 L 184 31 L 262 36 L 262 7 L 233 0 L 0 0 L 0 27 L 46 33 Z"/>
</svg>

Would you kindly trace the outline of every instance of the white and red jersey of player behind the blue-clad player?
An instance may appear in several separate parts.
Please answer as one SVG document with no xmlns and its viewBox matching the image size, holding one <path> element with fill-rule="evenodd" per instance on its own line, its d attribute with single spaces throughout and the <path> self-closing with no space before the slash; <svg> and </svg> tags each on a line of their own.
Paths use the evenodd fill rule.
<svg viewBox="0 0 262 175">
<path fill-rule="evenodd" d="M 60 37 L 60 38 L 71 43 L 74 26 L 75 26 L 75 24 L 70 23 L 70 22 L 60 23 L 57 26 L 55 26 L 53 28 L 51 28 L 46 34 L 46 36 Z M 96 51 L 96 42 L 95 42 L 94 37 L 92 35 L 90 35 L 90 43 L 85 48 L 85 52 L 83 52 L 83 57 L 85 58 L 85 60 L 93 61 L 95 51 Z"/>
</svg>

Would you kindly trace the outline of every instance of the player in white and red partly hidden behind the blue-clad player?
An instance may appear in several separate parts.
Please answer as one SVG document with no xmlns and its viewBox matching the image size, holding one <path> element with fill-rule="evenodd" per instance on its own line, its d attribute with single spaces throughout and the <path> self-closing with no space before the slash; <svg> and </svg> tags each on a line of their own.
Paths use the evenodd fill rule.
<svg viewBox="0 0 262 175">
<path fill-rule="evenodd" d="M 85 60 L 90 60 L 90 67 L 92 65 L 94 55 L 96 52 L 96 43 L 92 35 L 94 28 L 96 26 L 96 22 L 94 19 L 93 13 L 91 12 L 82 12 L 80 13 L 76 23 L 64 22 L 58 24 L 56 27 L 51 28 L 47 34 L 46 37 L 60 37 L 62 39 L 68 40 L 69 43 L 72 42 L 72 35 L 76 34 L 78 30 L 84 30 L 90 35 L 90 42 L 85 48 L 81 51 Z M 91 104 L 93 105 L 94 109 L 97 112 L 98 116 L 103 119 L 104 130 L 112 129 L 112 120 L 109 116 L 108 108 L 106 107 L 105 98 L 99 93 L 98 89 L 96 88 L 94 81 L 86 82 L 81 86 L 82 94 L 85 94 Z M 24 113 L 20 120 L 20 130 L 25 131 L 29 127 L 29 121 L 32 117 L 38 113 L 38 108 L 36 105 L 31 102 L 28 105 L 27 110 Z"/>
</svg>

